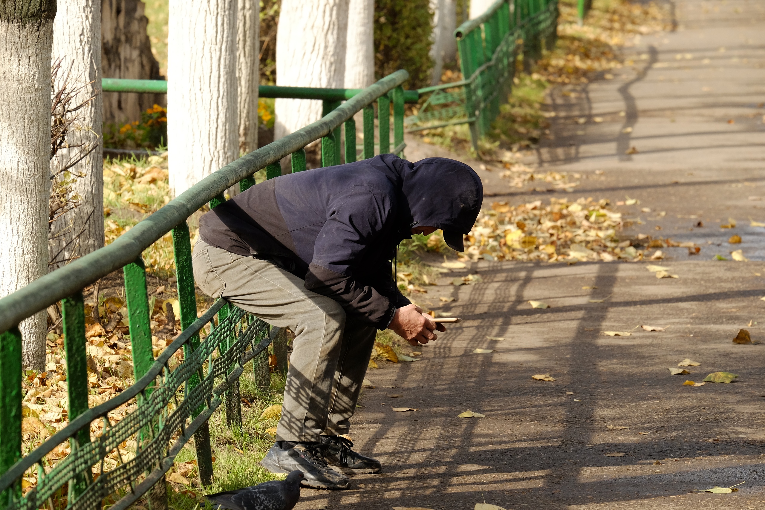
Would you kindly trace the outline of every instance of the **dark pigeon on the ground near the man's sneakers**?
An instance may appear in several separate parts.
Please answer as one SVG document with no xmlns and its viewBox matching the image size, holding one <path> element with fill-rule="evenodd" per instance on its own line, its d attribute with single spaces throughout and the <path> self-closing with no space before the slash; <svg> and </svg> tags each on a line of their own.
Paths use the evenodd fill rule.
<svg viewBox="0 0 765 510">
<path fill-rule="evenodd" d="M 293 471 L 287 479 L 263 482 L 256 486 L 206 495 L 215 510 L 291 510 L 300 499 L 301 471 Z"/>
</svg>

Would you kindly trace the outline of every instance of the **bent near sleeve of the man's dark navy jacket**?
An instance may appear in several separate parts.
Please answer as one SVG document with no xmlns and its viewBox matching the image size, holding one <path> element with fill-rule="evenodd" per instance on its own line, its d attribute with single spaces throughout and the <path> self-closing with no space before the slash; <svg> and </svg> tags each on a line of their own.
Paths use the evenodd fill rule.
<svg viewBox="0 0 765 510">
<path fill-rule="evenodd" d="M 379 330 L 392 320 L 396 301 L 354 273 L 369 245 L 392 228 L 391 208 L 386 193 L 368 186 L 350 187 L 333 197 L 305 278 L 309 291 L 337 300 L 347 313 Z"/>
</svg>

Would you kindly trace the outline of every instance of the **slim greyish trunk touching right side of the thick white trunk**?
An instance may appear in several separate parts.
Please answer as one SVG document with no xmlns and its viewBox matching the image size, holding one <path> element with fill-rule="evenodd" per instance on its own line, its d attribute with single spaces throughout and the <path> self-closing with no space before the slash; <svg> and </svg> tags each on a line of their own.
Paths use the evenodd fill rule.
<svg viewBox="0 0 765 510">
<path fill-rule="evenodd" d="M 258 148 L 258 86 L 260 61 L 259 0 L 239 0 L 236 20 L 236 80 L 239 82 L 239 151 L 248 153 Z"/>
</svg>

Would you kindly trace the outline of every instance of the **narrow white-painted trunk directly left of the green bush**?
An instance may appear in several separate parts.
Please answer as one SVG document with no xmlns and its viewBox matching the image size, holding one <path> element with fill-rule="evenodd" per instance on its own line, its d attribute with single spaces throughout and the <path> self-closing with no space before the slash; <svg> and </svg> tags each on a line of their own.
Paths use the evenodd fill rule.
<svg viewBox="0 0 765 510">
<path fill-rule="evenodd" d="M 374 0 L 350 0 L 345 50 L 345 88 L 375 83 Z"/>
</svg>

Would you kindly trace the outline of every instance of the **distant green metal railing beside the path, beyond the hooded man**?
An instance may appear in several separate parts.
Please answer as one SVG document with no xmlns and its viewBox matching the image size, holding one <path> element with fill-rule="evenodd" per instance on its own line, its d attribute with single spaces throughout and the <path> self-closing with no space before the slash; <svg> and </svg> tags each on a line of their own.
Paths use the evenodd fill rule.
<svg viewBox="0 0 765 510">
<path fill-rule="evenodd" d="M 510 92 L 519 49 L 528 67 L 543 47 L 555 45 L 557 22 L 558 0 L 496 0 L 483 15 L 465 21 L 454 31 L 465 80 L 418 89 L 431 96 L 405 119 L 409 131 L 468 123 L 477 151 Z"/>
</svg>

